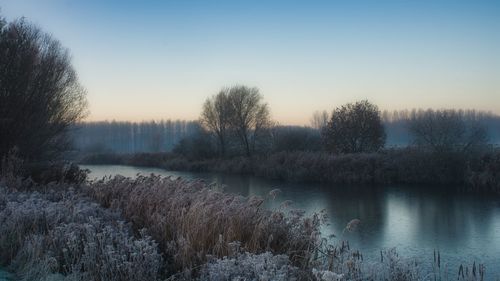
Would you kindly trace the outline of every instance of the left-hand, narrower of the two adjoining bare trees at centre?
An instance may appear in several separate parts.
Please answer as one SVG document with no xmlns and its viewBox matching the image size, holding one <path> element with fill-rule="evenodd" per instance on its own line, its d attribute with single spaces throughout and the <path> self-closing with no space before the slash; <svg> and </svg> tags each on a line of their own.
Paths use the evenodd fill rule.
<svg viewBox="0 0 500 281">
<path fill-rule="evenodd" d="M 203 104 L 200 117 L 200 123 L 216 136 L 221 156 L 224 156 L 226 153 L 226 143 L 232 114 L 228 92 L 229 89 L 222 89 L 217 95 L 207 98 Z"/>
</svg>

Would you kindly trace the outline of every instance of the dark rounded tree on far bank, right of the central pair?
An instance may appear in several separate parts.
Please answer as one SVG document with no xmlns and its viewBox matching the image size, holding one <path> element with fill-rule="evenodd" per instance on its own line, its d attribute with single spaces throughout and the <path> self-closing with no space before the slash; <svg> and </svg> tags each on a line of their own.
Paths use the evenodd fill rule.
<svg viewBox="0 0 500 281">
<path fill-rule="evenodd" d="M 358 153 L 382 148 L 386 134 L 377 106 L 364 100 L 335 109 L 322 137 L 328 151 Z"/>
</svg>

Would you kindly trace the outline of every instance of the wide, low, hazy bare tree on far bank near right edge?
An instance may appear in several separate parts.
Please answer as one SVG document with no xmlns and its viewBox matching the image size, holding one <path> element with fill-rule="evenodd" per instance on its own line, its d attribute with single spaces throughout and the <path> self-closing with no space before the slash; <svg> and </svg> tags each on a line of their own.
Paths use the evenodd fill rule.
<svg viewBox="0 0 500 281">
<path fill-rule="evenodd" d="M 408 122 L 414 143 L 436 152 L 466 152 L 488 140 L 486 129 L 478 120 L 466 118 L 461 111 L 427 110 L 414 114 Z"/>
</svg>

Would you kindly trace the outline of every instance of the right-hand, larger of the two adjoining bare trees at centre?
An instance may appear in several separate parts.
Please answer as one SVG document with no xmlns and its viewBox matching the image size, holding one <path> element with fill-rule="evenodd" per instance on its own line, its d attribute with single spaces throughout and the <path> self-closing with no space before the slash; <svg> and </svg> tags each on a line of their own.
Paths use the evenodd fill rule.
<svg viewBox="0 0 500 281">
<path fill-rule="evenodd" d="M 231 126 L 242 142 L 247 156 L 252 154 L 261 134 L 269 128 L 269 107 L 257 88 L 234 86 L 228 92 Z"/>
</svg>

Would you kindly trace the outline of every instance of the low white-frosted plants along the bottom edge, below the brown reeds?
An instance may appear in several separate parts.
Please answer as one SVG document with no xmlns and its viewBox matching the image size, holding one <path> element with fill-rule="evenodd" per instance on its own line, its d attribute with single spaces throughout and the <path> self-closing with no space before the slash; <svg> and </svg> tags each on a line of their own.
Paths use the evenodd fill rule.
<svg viewBox="0 0 500 281">
<path fill-rule="evenodd" d="M 199 279 L 416 281 L 433 280 L 436 276 L 430 272 L 422 274 L 423 270 L 415 260 L 400 257 L 395 249 L 382 251 L 381 260 L 373 263 L 365 263 L 361 253 L 351 250 L 346 242 L 329 245 L 320 252 L 323 256 L 316 256 L 317 262 L 313 262 L 307 271 L 292 266 L 286 255 L 239 253 L 208 262 Z"/>
</svg>

